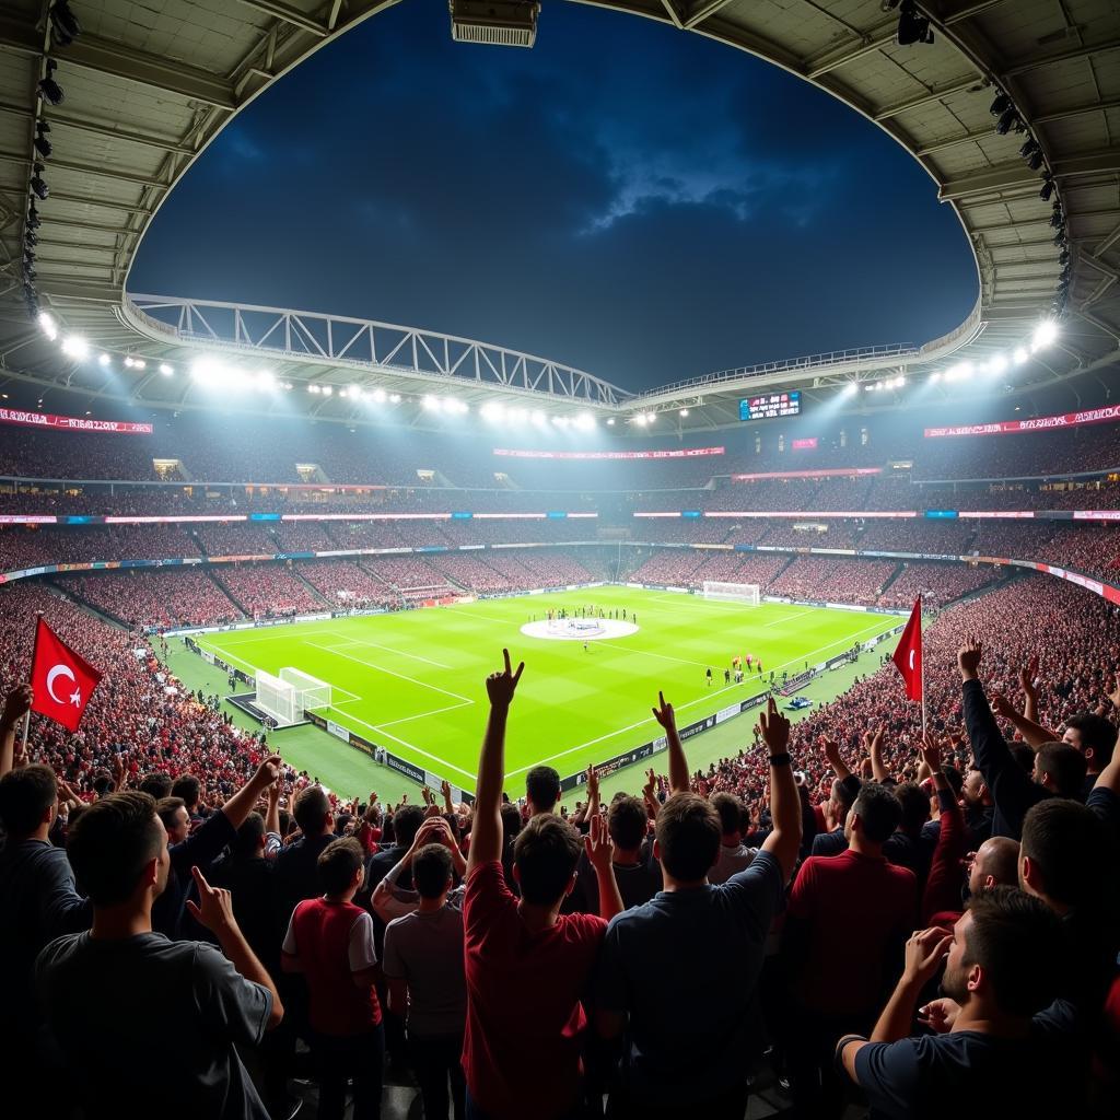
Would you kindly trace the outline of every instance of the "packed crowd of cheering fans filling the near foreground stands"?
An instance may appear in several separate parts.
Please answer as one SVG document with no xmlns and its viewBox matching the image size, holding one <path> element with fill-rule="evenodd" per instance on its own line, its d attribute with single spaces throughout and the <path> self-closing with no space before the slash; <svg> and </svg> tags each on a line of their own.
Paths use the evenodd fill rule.
<svg viewBox="0 0 1120 1120">
<path fill-rule="evenodd" d="M 766 1070 L 805 1120 L 855 1100 L 1116 1114 L 1120 619 L 1101 599 L 1034 578 L 942 614 L 925 737 L 885 665 L 795 728 L 771 700 L 753 747 L 692 773 L 659 697 L 668 774 L 607 804 L 591 768 L 575 813 L 556 771 L 506 777 L 507 736 L 532 735 L 533 666 L 508 653 L 474 803 L 445 784 L 383 812 L 333 802 L 49 600 L 0 600 L 12 1093 L 287 1120 L 310 1079 L 321 1120 L 347 1095 L 376 1120 L 388 1051 L 427 1120 L 743 1120 Z M 39 608 L 111 674 L 77 736 L 36 719 L 25 753 L 11 685 Z M 174 1045 L 122 1092 L 153 992 Z"/>
</svg>

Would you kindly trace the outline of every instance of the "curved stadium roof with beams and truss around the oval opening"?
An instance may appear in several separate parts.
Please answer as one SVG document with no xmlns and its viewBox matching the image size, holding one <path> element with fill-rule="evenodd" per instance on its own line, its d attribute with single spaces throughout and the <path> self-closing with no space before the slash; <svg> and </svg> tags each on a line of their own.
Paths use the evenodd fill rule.
<svg viewBox="0 0 1120 1120">
<path fill-rule="evenodd" d="M 431 332 L 125 297 L 144 231 L 209 141 L 272 82 L 392 0 L 72 2 L 82 34 L 68 45 L 52 32 L 46 0 L 8 0 L 0 12 L 0 363 L 17 380 L 157 405 L 206 405 L 189 382 L 160 377 L 150 363 L 124 380 L 115 367 L 67 360 L 29 320 L 21 269 L 39 123 L 49 124 L 54 150 L 41 160 L 49 197 L 35 202 L 38 300 L 63 330 L 114 355 L 155 360 L 156 367 L 188 362 L 209 332 L 216 348 L 258 362 L 267 356 L 277 377 L 298 389 L 356 383 L 407 394 L 418 404 L 413 419 L 422 416 L 422 394 L 442 391 L 476 403 L 579 402 L 622 417 L 671 409 L 680 427 L 703 428 L 736 420 L 738 399 L 764 389 L 799 386 L 831 398 L 852 380 L 940 371 L 950 355 L 959 366 L 1000 355 L 991 364 L 998 372 L 1002 355 L 1024 346 L 1053 314 L 1064 260 L 1072 276 L 1061 339 L 1033 355 L 1016 384 L 1076 377 L 1114 362 L 1120 348 L 1120 24 L 1112 0 L 921 2 L 934 41 L 908 46 L 897 45 L 899 10 L 884 11 L 889 0 L 600 2 L 765 58 L 887 131 L 960 216 L 979 277 L 969 318 L 924 346 L 799 357 L 636 398 L 559 363 Z M 37 94 L 40 80 L 52 76 L 48 57 L 65 93 L 57 105 Z M 1044 174 L 1053 183 L 1048 200 L 1039 195 Z M 1055 244 L 1057 232 L 1067 245 Z M 269 333 L 250 325 L 265 320 L 277 324 Z M 188 324 L 189 337 L 180 334 Z M 367 337 L 368 351 L 360 343 L 339 353 L 342 324 Z M 962 380 L 969 384 L 954 391 L 984 383 Z M 351 417 L 356 403 L 338 393 L 307 400 L 335 419 Z M 681 407 L 687 419 L 676 419 Z"/>
</svg>

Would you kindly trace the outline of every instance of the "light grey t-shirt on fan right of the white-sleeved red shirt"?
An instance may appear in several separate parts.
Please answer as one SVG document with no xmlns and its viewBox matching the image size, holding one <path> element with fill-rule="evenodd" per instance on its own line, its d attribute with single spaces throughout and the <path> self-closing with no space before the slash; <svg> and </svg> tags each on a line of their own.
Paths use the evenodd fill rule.
<svg viewBox="0 0 1120 1120">
<path fill-rule="evenodd" d="M 409 986 L 409 1033 L 430 1037 L 463 1030 L 467 983 L 463 972 L 463 911 L 445 905 L 431 914 L 416 911 L 385 930 L 383 968 Z"/>
</svg>

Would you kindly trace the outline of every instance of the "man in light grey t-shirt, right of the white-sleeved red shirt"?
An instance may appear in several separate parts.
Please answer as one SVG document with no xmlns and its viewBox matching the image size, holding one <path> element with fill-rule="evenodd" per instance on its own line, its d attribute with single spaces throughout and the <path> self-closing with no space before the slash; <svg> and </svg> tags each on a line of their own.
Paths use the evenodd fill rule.
<svg viewBox="0 0 1120 1120">
<path fill-rule="evenodd" d="M 461 890 L 455 893 L 454 903 L 449 902 L 455 865 L 463 857 L 447 822 L 442 818 L 436 821 L 421 834 L 426 840 L 437 834 L 441 839 L 426 842 L 411 857 L 417 906 L 385 930 L 384 971 L 389 1009 L 407 1020 L 424 1120 L 447 1120 L 449 1101 L 455 1120 L 463 1120 L 466 1082 L 460 1058 L 467 988 Z"/>
</svg>

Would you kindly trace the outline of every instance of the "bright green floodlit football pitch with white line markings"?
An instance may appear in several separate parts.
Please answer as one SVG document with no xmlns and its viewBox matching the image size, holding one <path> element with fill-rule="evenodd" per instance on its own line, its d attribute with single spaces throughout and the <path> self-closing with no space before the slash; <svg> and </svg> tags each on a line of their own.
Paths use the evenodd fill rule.
<svg viewBox="0 0 1120 1120">
<path fill-rule="evenodd" d="M 549 609 L 636 612 L 627 636 L 560 641 L 522 627 Z M 400 614 L 333 618 L 253 631 L 200 634 L 198 645 L 246 672 L 291 666 L 327 681 L 333 706 L 319 711 L 401 758 L 473 791 L 486 720 L 486 675 L 508 647 L 525 673 L 511 710 L 511 788 L 538 763 L 561 776 L 657 738 L 657 691 L 684 726 L 897 626 L 893 615 L 795 604 L 750 607 L 697 596 L 597 587 L 484 599 Z M 540 628 L 540 627 L 539 627 Z M 736 655 L 762 659 L 741 684 L 726 684 Z M 707 670 L 712 683 L 707 683 Z M 732 679 L 734 680 L 734 679 Z M 278 738 L 282 749 L 282 732 Z M 326 752 L 361 755 L 324 734 Z"/>
</svg>

